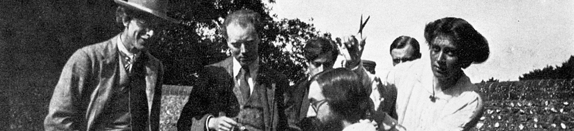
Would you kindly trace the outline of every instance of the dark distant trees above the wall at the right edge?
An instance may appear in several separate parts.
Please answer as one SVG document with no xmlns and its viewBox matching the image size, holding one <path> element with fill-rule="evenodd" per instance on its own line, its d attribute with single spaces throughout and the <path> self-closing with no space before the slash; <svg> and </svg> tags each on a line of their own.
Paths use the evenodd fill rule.
<svg viewBox="0 0 574 131">
<path fill-rule="evenodd" d="M 522 74 L 518 80 L 545 80 L 545 79 L 572 79 L 574 78 L 574 55 L 570 56 L 562 66 L 546 66 L 543 69 L 534 69 L 532 72 Z"/>
</svg>

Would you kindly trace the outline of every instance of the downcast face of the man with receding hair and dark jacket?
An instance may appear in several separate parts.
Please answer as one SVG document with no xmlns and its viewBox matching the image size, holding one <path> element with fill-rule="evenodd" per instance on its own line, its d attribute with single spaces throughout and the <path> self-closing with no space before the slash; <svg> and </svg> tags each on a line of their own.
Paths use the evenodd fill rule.
<svg viewBox="0 0 574 131">
<path fill-rule="evenodd" d="M 247 66 L 257 60 L 259 36 L 253 25 L 241 27 L 236 22 L 227 26 L 227 46 L 231 55 L 241 66 Z"/>
</svg>

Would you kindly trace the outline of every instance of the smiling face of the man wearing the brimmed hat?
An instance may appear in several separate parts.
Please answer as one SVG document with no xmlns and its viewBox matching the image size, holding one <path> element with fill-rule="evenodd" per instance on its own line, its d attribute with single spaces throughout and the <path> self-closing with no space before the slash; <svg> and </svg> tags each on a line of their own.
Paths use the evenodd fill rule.
<svg viewBox="0 0 574 131">
<path fill-rule="evenodd" d="M 132 18 L 124 21 L 125 38 L 122 38 L 128 48 L 143 50 L 154 36 L 154 29 L 158 25 L 157 19 L 151 18 Z"/>
</svg>

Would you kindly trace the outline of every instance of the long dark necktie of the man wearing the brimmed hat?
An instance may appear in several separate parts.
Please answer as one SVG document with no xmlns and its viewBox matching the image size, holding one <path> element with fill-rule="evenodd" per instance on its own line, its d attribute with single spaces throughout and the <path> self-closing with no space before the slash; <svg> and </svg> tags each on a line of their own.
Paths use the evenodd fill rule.
<svg viewBox="0 0 574 131">
<path fill-rule="evenodd" d="M 129 75 L 129 101 L 132 130 L 148 130 L 148 97 L 146 95 L 146 68 L 147 55 L 142 55 L 133 62 L 133 73 Z M 126 64 L 128 65 L 128 64 Z M 127 66 L 129 68 L 129 66 Z"/>
</svg>

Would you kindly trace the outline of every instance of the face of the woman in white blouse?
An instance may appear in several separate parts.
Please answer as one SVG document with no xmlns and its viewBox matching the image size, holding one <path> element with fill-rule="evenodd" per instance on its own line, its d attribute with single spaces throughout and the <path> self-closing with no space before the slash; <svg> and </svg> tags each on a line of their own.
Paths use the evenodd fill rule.
<svg viewBox="0 0 574 131">
<path fill-rule="evenodd" d="M 451 39 L 443 36 L 436 37 L 430 47 L 430 62 L 432 72 L 439 80 L 456 80 L 462 71 L 459 57 L 456 56 L 457 47 Z"/>
</svg>

